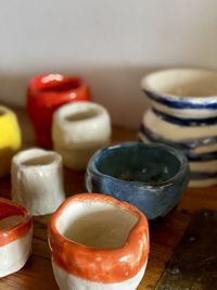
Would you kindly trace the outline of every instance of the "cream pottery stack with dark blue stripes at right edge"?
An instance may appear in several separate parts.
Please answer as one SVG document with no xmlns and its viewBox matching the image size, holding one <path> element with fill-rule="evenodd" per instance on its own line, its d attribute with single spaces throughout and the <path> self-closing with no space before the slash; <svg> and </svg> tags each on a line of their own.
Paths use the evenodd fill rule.
<svg viewBox="0 0 217 290">
<path fill-rule="evenodd" d="M 139 138 L 181 149 L 190 162 L 193 187 L 217 184 L 217 73 L 167 70 L 148 75 L 142 88 L 152 109 Z"/>
</svg>

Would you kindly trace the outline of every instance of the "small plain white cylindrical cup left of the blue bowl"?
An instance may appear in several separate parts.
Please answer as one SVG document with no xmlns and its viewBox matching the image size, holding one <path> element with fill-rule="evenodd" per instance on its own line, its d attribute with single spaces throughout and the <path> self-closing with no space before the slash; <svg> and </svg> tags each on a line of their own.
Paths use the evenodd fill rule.
<svg viewBox="0 0 217 290">
<path fill-rule="evenodd" d="M 64 201 L 62 157 L 53 151 L 28 149 L 12 160 L 12 199 L 31 215 L 53 213 Z"/>
</svg>

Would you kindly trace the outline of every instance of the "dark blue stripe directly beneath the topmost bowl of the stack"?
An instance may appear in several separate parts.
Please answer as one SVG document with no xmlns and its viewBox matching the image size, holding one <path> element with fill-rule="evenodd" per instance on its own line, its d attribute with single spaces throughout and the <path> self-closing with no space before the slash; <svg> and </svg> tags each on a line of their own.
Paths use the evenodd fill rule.
<svg viewBox="0 0 217 290">
<path fill-rule="evenodd" d="M 187 127 L 196 127 L 196 126 L 207 126 L 207 125 L 216 125 L 217 117 L 209 117 L 209 118 L 179 118 L 163 112 L 159 112 L 156 109 L 152 109 L 153 113 L 157 115 L 161 119 L 164 119 L 168 123 L 177 124 L 179 126 L 187 126 Z"/>
</svg>

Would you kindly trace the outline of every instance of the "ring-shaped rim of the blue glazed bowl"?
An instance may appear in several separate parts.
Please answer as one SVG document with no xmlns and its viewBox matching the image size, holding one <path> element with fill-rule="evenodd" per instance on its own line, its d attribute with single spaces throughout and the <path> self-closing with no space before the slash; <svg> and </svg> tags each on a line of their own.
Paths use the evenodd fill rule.
<svg viewBox="0 0 217 290">
<path fill-rule="evenodd" d="M 97 166 L 97 162 L 98 160 L 100 160 L 100 156 L 103 152 L 105 152 L 106 150 L 115 150 L 115 149 L 119 149 L 119 148 L 131 148 L 131 147 L 146 147 L 146 148 L 153 148 L 153 149 L 164 149 L 165 151 L 171 153 L 174 155 L 174 157 L 176 157 L 179 162 L 180 162 L 180 168 L 179 171 L 171 177 L 168 178 L 167 180 L 164 181 L 155 181 L 155 182 L 145 182 L 145 181 L 135 181 L 135 180 L 123 180 L 123 179 L 118 179 L 114 176 L 111 175 L 106 175 L 103 174 L 102 172 L 100 172 L 98 169 Z M 92 157 L 89 161 L 87 171 L 93 172 L 94 175 L 99 176 L 99 177 L 105 177 L 105 178 L 110 178 L 113 180 L 116 180 L 120 184 L 131 184 L 131 185 L 137 185 L 137 186 L 145 186 L 146 188 L 157 188 L 157 187 L 167 187 L 168 185 L 173 184 L 175 180 L 179 179 L 179 177 L 183 176 L 186 174 L 186 172 L 189 169 L 189 163 L 187 160 L 187 156 L 179 150 L 176 150 L 171 147 L 162 144 L 162 143 L 150 143 L 150 144 L 143 144 L 141 142 L 122 142 L 122 143 L 117 143 L 117 144 L 113 144 L 110 147 L 105 147 L 102 148 L 100 150 L 98 150 Z"/>
</svg>

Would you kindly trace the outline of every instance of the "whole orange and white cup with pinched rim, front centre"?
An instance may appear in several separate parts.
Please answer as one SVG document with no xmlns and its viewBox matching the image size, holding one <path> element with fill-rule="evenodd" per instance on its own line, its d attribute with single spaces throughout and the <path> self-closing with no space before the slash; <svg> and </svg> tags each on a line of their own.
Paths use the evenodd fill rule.
<svg viewBox="0 0 217 290">
<path fill-rule="evenodd" d="M 108 196 L 77 194 L 52 216 L 49 244 L 61 290 L 136 290 L 148 262 L 148 222 Z"/>
</svg>

